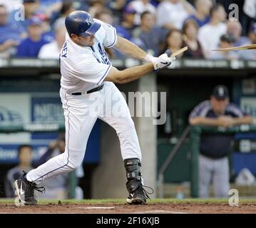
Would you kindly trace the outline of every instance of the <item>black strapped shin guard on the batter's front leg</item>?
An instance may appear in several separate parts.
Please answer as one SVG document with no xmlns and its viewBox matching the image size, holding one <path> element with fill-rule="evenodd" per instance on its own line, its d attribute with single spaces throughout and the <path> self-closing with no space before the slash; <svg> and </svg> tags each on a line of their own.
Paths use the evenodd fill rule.
<svg viewBox="0 0 256 228">
<path fill-rule="evenodd" d="M 126 187 L 128 192 L 134 192 L 138 187 L 147 187 L 143 186 L 141 183 L 141 163 L 138 158 L 129 158 L 124 160 L 125 167 L 126 167 Z M 146 192 L 143 189 L 144 194 L 148 197 L 148 194 L 152 194 L 154 191 L 151 187 L 148 187 L 152 192 Z M 148 197 L 149 198 L 149 197 Z"/>
</svg>

